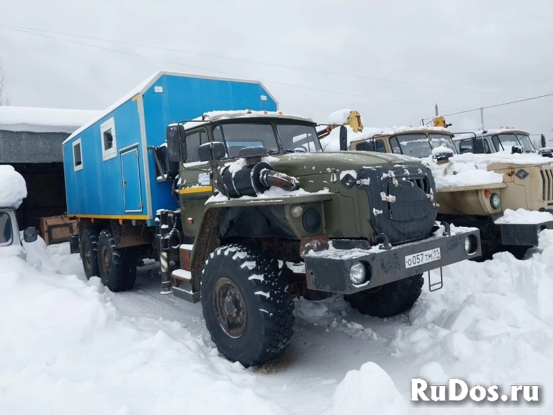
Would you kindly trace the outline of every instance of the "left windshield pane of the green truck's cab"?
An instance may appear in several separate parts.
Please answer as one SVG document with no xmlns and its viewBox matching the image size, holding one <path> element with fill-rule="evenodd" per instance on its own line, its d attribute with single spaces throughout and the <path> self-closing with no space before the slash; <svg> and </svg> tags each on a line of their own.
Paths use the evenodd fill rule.
<svg viewBox="0 0 553 415">
<path fill-rule="evenodd" d="M 216 141 L 223 141 L 222 138 L 225 137 L 229 158 L 238 157 L 240 150 L 245 147 L 258 147 L 261 145 L 270 154 L 277 154 L 279 152 L 277 138 L 274 137 L 272 125 L 268 122 L 218 124 L 213 127 L 213 137 Z"/>
</svg>

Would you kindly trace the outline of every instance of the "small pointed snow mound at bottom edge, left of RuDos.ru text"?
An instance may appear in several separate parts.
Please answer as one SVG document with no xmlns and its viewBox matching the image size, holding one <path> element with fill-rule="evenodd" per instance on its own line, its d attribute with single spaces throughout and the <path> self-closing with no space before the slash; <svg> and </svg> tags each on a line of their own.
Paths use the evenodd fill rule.
<svg viewBox="0 0 553 415">
<path fill-rule="evenodd" d="M 393 380 L 376 363 L 348 371 L 332 396 L 332 415 L 407 415 Z"/>
</svg>

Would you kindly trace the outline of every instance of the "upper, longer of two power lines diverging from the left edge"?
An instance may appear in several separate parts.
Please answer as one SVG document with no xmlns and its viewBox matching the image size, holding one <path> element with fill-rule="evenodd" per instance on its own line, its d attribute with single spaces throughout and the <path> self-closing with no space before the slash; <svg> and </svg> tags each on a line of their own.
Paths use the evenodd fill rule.
<svg viewBox="0 0 553 415">
<path fill-rule="evenodd" d="M 274 64 L 274 63 L 268 63 L 268 62 L 254 61 L 254 60 L 250 60 L 250 59 L 239 59 L 239 58 L 236 58 L 236 57 L 226 57 L 226 56 L 221 56 L 221 55 L 212 55 L 212 54 L 209 54 L 209 53 L 191 52 L 189 50 L 164 48 L 162 46 L 151 46 L 151 45 L 144 45 L 144 44 L 135 44 L 135 43 L 131 43 L 131 42 L 122 42 L 122 41 L 118 41 L 118 40 L 105 39 L 105 38 L 101 38 L 101 37 L 91 37 L 91 36 L 84 36 L 84 35 L 75 35 L 73 33 L 56 32 L 54 30 L 27 28 L 27 27 L 24 27 L 24 26 L 13 26 L 13 25 L 8 25 L 8 24 L 0 24 L 0 26 L 3 26 L 4 28 L 7 28 L 7 29 L 12 29 L 12 30 L 17 30 L 17 29 L 20 29 L 20 30 L 21 29 L 35 30 L 37 32 L 54 33 L 56 35 L 80 37 L 82 39 L 91 39 L 91 40 L 97 40 L 97 41 L 100 41 L 100 42 L 111 42 L 111 43 L 124 44 L 124 45 L 129 45 L 129 46 L 139 46 L 139 47 L 142 47 L 142 48 L 153 48 L 153 49 L 159 49 L 159 50 L 167 50 L 169 52 L 178 52 L 178 53 L 187 53 L 187 54 L 190 54 L 190 55 L 215 57 L 215 58 L 218 58 L 218 59 L 228 59 L 228 60 L 234 60 L 234 61 L 237 61 L 237 62 L 247 62 L 247 63 L 250 63 L 250 64 L 260 64 L 260 65 L 266 65 L 266 66 L 275 66 L 277 68 L 295 69 L 297 71 L 310 71 L 310 72 L 317 72 L 317 73 L 326 73 L 328 75 L 357 77 L 357 78 L 366 79 L 366 80 L 375 80 L 375 81 L 382 81 L 382 82 L 394 82 L 394 83 L 397 83 L 397 84 L 407 84 L 407 85 L 415 85 L 415 86 L 426 86 L 428 88 L 447 89 L 449 91 L 462 91 L 462 92 L 480 93 L 480 94 L 487 94 L 487 95 L 500 95 L 500 96 L 511 97 L 511 98 L 524 98 L 524 97 L 520 97 L 518 95 L 508 95 L 508 94 L 505 94 L 505 93 L 476 91 L 476 90 L 473 90 L 473 89 L 453 88 L 451 86 L 439 86 L 439 85 L 432 85 L 432 84 L 422 84 L 422 83 L 419 83 L 419 82 L 390 80 L 390 79 L 386 79 L 386 78 L 371 77 L 371 76 L 366 76 L 366 75 L 355 75 L 355 74 L 351 74 L 351 73 L 324 71 L 322 69 L 302 68 L 301 66 L 290 66 L 290 65 L 283 65 L 283 64 Z M 33 33 L 33 34 L 39 35 L 38 33 Z M 553 102 L 553 101 L 547 100 L 547 102 Z"/>
</svg>

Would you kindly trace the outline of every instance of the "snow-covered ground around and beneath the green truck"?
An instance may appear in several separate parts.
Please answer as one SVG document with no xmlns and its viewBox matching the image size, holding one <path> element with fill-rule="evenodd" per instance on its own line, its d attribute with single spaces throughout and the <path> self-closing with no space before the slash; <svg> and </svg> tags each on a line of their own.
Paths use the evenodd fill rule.
<svg viewBox="0 0 553 415">
<path fill-rule="evenodd" d="M 393 318 L 360 315 L 341 297 L 297 301 L 289 349 L 254 369 L 218 356 L 200 304 L 159 294 L 155 262 L 114 294 L 86 281 L 67 243 L 48 247 L 46 271 L 2 258 L 0 412 L 551 414 L 553 231 L 540 248 L 525 261 L 501 253 L 449 266 L 441 291 L 425 286 Z M 540 385 L 541 403 L 413 405 L 416 377 Z"/>
</svg>

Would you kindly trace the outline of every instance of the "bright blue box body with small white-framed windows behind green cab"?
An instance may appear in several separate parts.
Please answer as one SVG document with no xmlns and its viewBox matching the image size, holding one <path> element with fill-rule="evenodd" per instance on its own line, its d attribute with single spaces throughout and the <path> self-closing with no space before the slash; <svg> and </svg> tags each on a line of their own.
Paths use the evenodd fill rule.
<svg viewBox="0 0 553 415">
<path fill-rule="evenodd" d="M 167 125 L 207 111 L 277 111 L 278 103 L 256 81 L 160 72 L 113 105 L 102 118 L 75 131 L 63 144 L 69 216 L 144 219 L 176 210 L 170 182 L 156 182 L 153 149 L 166 140 Z M 100 126 L 113 118 L 116 154 L 104 160 Z M 82 168 L 75 169 L 80 140 Z M 77 147 L 78 149 L 78 147 Z M 113 151 L 113 150 L 112 150 Z"/>
</svg>

